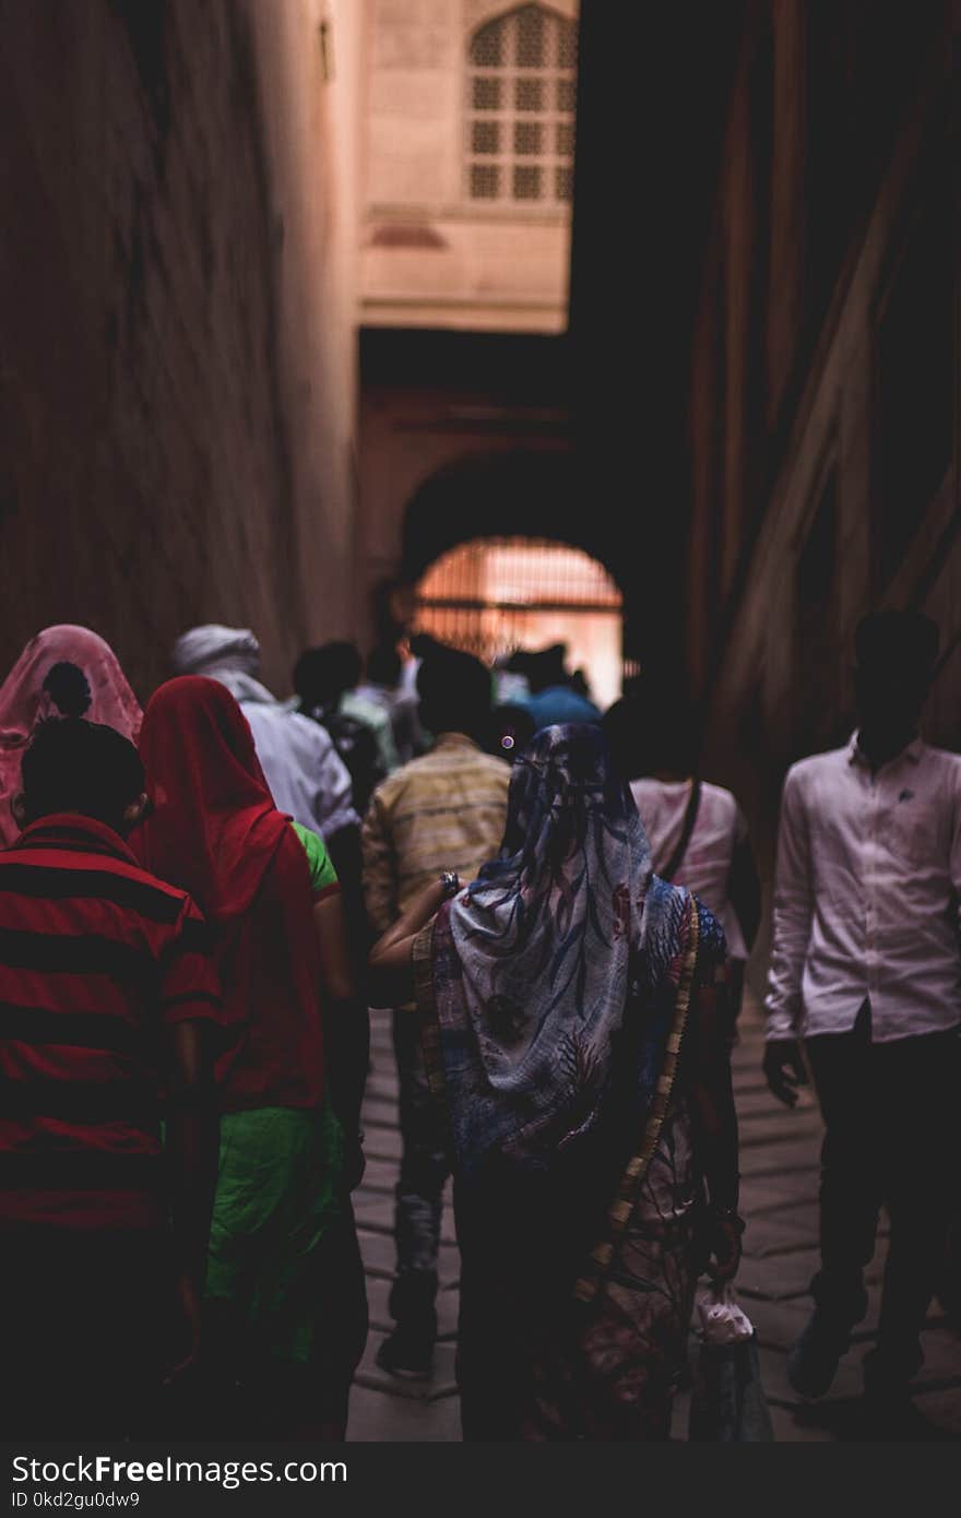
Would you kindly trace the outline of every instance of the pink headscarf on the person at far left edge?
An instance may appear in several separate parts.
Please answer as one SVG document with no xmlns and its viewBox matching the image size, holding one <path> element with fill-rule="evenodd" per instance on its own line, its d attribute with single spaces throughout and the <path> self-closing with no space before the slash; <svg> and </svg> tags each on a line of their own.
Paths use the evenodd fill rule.
<svg viewBox="0 0 961 1518">
<path fill-rule="evenodd" d="M 58 706 L 58 686 L 55 685 L 53 694 L 44 689 L 50 669 L 58 663 L 71 663 L 80 669 L 90 688 L 90 701 L 82 682 L 74 679 L 73 683 L 67 682 L 71 697 L 68 710 Z M 20 789 L 23 750 L 36 724 L 44 716 L 58 715 L 87 716 L 91 723 L 115 727 L 131 742 L 137 742 L 141 723 L 137 697 L 109 644 L 91 633 L 90 627 L 46 627 L 30 639 L 0 686 L 0 844 L 11 844 L 17 838 L 11 797 Z"/>
</svg>

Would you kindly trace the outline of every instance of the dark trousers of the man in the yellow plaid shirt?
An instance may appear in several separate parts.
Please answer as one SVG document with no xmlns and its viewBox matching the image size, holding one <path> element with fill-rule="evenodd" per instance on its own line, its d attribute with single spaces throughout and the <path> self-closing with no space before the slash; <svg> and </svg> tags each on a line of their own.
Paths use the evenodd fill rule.
<svg viewBox="0 0 961 1518">
<path fill-rule="evenodd" d="M 396 1187 L 396 1278 L 390 1310 L 396 1319 L 425 1316 L 437 1295 L 437 1249 L 443 1186 L 451 1173 L 443 1114 L 427 1082 L 414 1013 L 393 1014 L 401 1117 L 401 1178 Z"/>
</svg>

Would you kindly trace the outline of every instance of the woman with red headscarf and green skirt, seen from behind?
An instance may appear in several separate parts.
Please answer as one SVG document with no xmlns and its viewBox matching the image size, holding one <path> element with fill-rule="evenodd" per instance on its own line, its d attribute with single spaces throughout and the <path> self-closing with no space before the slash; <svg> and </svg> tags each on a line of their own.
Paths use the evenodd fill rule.
<svg viewBox="0 0 961 1518">
<path fill-rule="evenodd" d="M 202 906 L 241 1025 L 217 1072 L 206 1309 L 214 1366 L 241 1397 L 220 1428 L 343 1438 L 367 1327 L 349 1202 L 366 1011 L 337 877 L 322 839 L 276 811 L 250 729 L 216 680 L 156 691 L 141 756 L 155 811 L 138 847 Z"/>
</svg>

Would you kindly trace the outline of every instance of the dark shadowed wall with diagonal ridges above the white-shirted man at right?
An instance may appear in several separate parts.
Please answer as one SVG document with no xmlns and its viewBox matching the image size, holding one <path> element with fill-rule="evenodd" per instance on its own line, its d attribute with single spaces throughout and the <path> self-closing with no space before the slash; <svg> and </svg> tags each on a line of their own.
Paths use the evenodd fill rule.
<svg viewBox="0 0 961 1518">
<path fill-rule="evenodd" d="M 703 269 L 689 669 L 768 883 L 788 764 L 853 727 L 862 615 L 938 619 L 926 732 L 961 747 L 956 6 L 903 21 L 750 8 Z"/>
</svg>

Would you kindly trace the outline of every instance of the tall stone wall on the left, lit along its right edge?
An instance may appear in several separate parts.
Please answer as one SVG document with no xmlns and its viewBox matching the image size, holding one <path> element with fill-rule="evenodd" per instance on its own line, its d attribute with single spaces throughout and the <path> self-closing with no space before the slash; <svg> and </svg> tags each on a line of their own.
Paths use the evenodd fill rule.
<svg viewBox="0 0 961 1518">
<path fill-rule="evenodd" d="M 0 27 L 0 668 L 82 621 L 146 694 L 217 619 L 284 683 L 351 616 L 355 8 Z"/>
</svg>

